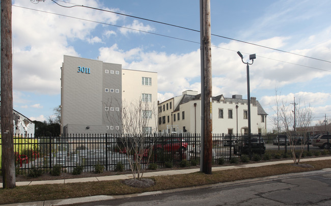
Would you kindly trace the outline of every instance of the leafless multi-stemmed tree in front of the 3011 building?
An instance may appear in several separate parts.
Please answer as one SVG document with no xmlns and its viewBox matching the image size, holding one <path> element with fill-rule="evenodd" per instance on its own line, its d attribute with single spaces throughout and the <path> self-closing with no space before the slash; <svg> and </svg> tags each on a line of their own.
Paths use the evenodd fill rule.
<svg viewBox="0 0 331 206">
<path fill-rule="evenodd" d="M 104 103 L 107 107 L 112 107 L 108 101 Z M 126 154 L 127 161 L 134 180 L 141 180 L 148 165 L 157 140 L 157 105 L 152 102 L 139 99 L 133 102 L 123 101 L 119 111 L 108 110 L 107 120 L 112 125 L 120 128 L 121 134 L 117 146 L 120 152 Z"/>
</svg>

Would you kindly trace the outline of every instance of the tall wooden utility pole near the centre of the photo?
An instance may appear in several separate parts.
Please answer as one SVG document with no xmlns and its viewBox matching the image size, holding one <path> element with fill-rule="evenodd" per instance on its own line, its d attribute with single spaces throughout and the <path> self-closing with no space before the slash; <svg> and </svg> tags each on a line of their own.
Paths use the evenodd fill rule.
<svg viewBox="0 0 331 206">
<path fill-rule="evenodd" d="M 211 174 L 212 163 L 212 82 L 210 0 L 200 0 L 201 41 L 201 155 L 200 171 Z"/>
</svg>

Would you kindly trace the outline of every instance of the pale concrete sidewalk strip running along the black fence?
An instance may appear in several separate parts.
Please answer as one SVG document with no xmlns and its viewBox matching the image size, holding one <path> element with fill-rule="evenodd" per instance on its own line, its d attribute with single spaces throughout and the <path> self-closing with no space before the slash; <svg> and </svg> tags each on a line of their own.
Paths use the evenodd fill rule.
<svg viewBox="0 0 331 206">
<path fill-rule="evenodd" d="M 331 160 L 331 157 L 307 158 L 307 159 L 301 159 L 300 162 L 315 161 L 315 160 Z M 265 165 L 275 165 L 275 164 L 282 164 L 282 163 L 284 163 L 284 164 L 293 163 L 293 160 L 281 160 L 281 161 L 261 162 L 261 163 L 253 163 L 253 164 L 219 166 L 219 167 L 212 167 L 212 171 L 219 171 L 219 170 L 225 170 L 225 169 L 237 169 L 237 168 L 243 168 L 243 167 L 260 167 L 260 166 L 265 166 Z M 145 172 L 143 176 L 145 178 L 148 178 L 150 176 L 188 174 L 188 173 L 193 173 L 193 172 L 198 172 L 198 171 L 200 171 L 199 168 L 155 171 L 155 172 Z M 125 180 L 125 179 L 130 179 L 130 178 L 133 178 L 132 174 L 121 174 L 121 175 L 111 175 L 111 176 L 98 176 L 98 177 L 93 177 L 93 178 L 16 182 L 16 186 L 84 183 L 84 182 L 98 182 L 98 181 L 111 181 L 111 180 Z M 3 187 L 3 185 L 1 183 L 0 188 L 2 188 L 2 187 Z"/>
</svg>

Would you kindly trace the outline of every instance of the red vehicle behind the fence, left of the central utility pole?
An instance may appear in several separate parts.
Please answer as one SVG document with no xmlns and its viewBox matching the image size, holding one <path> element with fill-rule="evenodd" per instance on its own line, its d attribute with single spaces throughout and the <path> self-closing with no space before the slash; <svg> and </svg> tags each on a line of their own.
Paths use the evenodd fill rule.
<svg viewBox="0 0 331 206">
<path fill-rule="evenodd" d="M 158 141 L 156 144 L 156 150 L 162 150 L 166 152 L 180 152 L 184 153 L 187 149 L 187 142 L 183 138 L 169 138 L 163 141 Z"/>
</svg>

